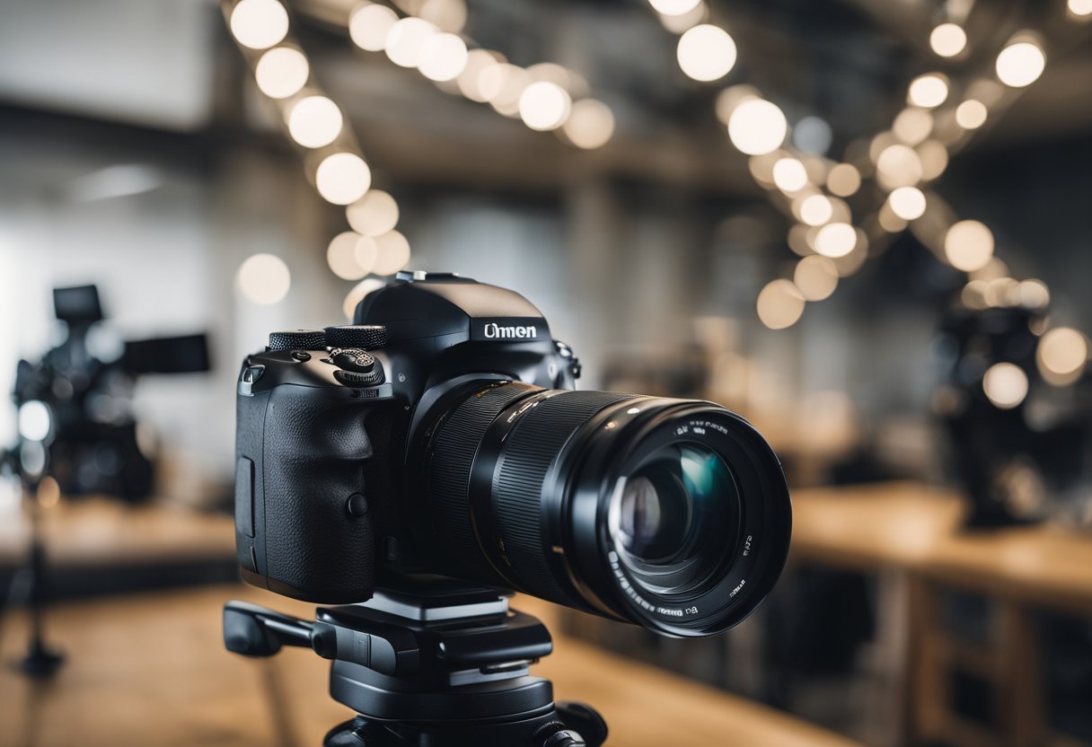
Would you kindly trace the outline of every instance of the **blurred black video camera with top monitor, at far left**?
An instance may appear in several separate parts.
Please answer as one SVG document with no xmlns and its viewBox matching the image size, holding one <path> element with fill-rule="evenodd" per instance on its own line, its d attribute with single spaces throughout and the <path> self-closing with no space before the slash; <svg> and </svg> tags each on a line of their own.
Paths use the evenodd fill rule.
<svg viewBox="0 0 1092 747">
<path fill-rule="evenodd" d="M 67 336 L 38 363 L 19 361 L 19 443 L 10 460 L 35 483 L 54 478 L 58 496 L 145 500 L 155 470 L 132 411 L 136 379 L 207 371 L 207 339 L 199 333 L 128 341 L 110 359 L 92 343 L 105 319 L 96 286 L 55 288 L 54 308 Z"/>
</svg>

